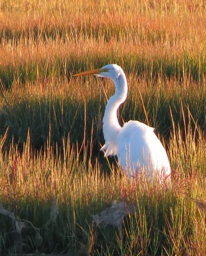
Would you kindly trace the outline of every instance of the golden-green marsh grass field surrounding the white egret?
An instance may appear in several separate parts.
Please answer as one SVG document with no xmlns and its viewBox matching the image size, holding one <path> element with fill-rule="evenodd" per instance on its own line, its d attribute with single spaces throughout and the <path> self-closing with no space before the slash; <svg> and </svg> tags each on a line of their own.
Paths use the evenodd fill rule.
<svg viewBox="0 0 206 256">
<path fill-rule="evenodd" d="M 156 127 L 172 184 L 129 181 L 99 152 L 108 79 L 121 124 Z M 0 1 L 0 255 L 206 255 L 206 3 Z M 121 228 L 94 222 L 116 201 Z"/>
</svg>

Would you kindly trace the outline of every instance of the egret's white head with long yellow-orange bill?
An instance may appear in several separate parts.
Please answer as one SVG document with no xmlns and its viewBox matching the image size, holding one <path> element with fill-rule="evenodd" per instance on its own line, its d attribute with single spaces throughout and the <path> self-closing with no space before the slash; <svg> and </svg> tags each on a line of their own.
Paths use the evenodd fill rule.
<svg viewBox="0 0 206 256">
<path fill-rule="evenodd" d="M 103 66 L 102 68 L 97 68 L 93 70 L 88 70 L 84 72 L 80 72 L 75 74 L 74 76 L 79 76 L 79 75 L 96 75 L 100 77 L 108 77 L 115 81 L 118 78 L 118 75 L 120 73 L 123 73 L 122 68 L 116 64 L 108 64 L 106 66 Z"/>
</svg>

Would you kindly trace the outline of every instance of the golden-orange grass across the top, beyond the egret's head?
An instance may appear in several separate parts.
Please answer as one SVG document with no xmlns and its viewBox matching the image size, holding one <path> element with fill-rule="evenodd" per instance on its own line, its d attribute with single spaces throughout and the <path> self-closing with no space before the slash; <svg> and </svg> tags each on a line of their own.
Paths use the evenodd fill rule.
<svg viewBox="0 0 206 256">
<path fill-rule="evenodd" d="M 168 10 L 164 5 L 170 6 Z M 192 5 L 198 6 L 191 13 Z M 10 6 L 0 16 L 1 65 L 49 62 L 56 56 L 80 58 L 97 52 L 99 58 L 108 52 L 182 58 L 184 53 L 198 56 L 205 51 L 206 15 L 197 2 L 14 1 Z"/>
</svg>

